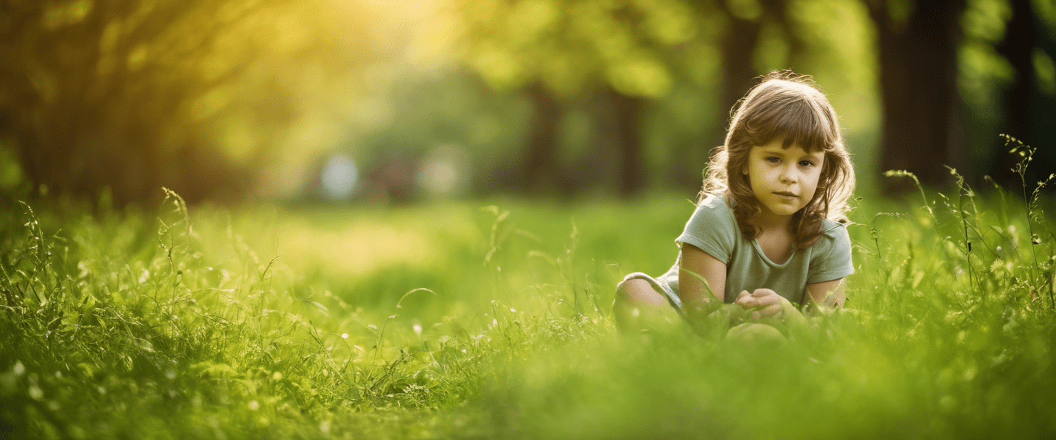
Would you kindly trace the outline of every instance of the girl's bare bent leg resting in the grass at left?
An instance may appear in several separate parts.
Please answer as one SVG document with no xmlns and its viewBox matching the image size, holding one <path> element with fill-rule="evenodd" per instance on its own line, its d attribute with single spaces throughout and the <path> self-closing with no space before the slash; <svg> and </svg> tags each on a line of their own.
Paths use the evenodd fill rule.
<svg viewBox="0 0 1056 440">
<path fill-rule="evenodd" d="M 650 321 L 678 319 L 678 312 L 663 294 L 645 280 L 630 279 L 616 285 L 612 305 L 616 326 L 624 333 L 636 333 L 648 327 Z"/>
</svg>

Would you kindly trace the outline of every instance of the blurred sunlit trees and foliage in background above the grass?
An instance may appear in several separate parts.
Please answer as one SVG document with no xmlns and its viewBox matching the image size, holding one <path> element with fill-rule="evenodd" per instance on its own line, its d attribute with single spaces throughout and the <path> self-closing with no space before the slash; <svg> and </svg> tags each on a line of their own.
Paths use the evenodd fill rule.
<svg viewBox="0 0 1056 440">
<path fill-rule="evenodd" d="M 866 193 L 1013 183 L 998 133 L 1056 169 L 1054 56 L 1052 0 L 0 0 L 0 193 L 692 194 L 775 69 Z"/>
</svg>

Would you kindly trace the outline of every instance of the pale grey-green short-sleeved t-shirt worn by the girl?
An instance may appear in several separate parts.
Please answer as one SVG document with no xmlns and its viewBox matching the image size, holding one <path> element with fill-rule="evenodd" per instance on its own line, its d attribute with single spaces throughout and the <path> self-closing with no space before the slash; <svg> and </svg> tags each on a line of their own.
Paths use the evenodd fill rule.
<svg viewBox="0 0 1056 440">
<path fill-rule="evenodd" d="M 709 196 L 697 206 L 675 243 L 681 248 L 691 244 L 727 265 L 727 303 L 733 303 L 741 290 L 769 288 L 789 301 L 800 304 L 808 284 L 840 280 L 854 273 L 851 264 L 851 240 L 847 228 L 825 219 L 824 233 L 807 249 L 795 249 L 784 264 L 776 264 L 762 253 L 759 243 L 744 238 L 733 210 L 722 197 Z M 657 279 L 678 299 L 679 252 L 675 266 Z M 665 285 L 665 286 L 664 286 Z M 668 290 L 665 289 L 665 290 Z M 681 306 L 681 301 L 678 301 Z"/>
</svg>

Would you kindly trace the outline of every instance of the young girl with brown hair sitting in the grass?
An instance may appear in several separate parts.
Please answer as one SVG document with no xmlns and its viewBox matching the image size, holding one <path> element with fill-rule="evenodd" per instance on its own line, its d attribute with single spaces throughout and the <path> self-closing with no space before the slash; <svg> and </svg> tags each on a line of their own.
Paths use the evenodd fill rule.
<svg viewBox="0 0 1056 440">
<path fill-rule="evenodd" d="M 793 304 L 840 307 L 854 272 L 847 200 L 854 170 L 836 113 L 809 76 L 772 72 L 749 91 L 712 152 L 697 208 L 675 240 L 675 265 L 617 285 L 624 330 L 643 312 L 682 314 L 735 303 L 754 318 L 791 318 Z"/>
</svg>

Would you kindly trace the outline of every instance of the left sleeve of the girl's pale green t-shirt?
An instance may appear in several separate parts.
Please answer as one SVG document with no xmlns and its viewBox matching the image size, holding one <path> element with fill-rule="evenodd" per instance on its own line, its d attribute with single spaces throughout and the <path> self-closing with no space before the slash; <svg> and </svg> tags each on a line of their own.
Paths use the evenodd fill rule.
<svg viewBox="0 0 1056 440">
<path fill-rule="evenodd" d="M 733 212 L 725 202 L 713 195 L 697 206 L 675 243 L 679 247 L 691 244 L 723 264 L 730 264 L 736 235 Z"/>
</svg>

